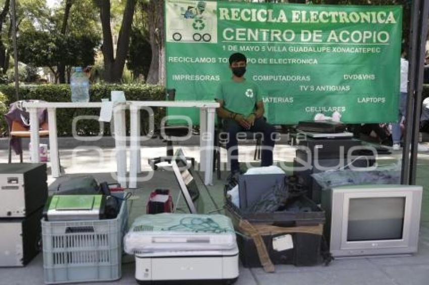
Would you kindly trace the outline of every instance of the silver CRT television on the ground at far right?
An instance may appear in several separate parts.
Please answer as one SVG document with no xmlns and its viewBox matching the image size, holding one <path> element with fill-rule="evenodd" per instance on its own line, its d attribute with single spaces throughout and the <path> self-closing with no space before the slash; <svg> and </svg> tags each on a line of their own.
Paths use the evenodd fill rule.
<svg viewBox="0 0 429 285">
<path fill-rule="evenodd" d="M 417 252 L 421 186 L 353 185 L 323 191 L 334 257 Z"/>
</svg>

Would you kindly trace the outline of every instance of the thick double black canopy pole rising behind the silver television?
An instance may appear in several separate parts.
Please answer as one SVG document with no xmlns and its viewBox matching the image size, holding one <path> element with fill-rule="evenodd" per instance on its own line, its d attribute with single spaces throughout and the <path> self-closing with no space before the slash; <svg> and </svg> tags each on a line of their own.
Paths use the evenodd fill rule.
<svg viewBox="0 0 429 285">
<path fill-rule="evenodd" d="M 401 183 L 407 185 L 415 184 L 417 172 L 418 134 L 420 129 L 421 93 L 423 90 L 423 65 L 429 2 L 414 0 L 411 13 L 410 46 L 408 51 L 408 96 L 401 173 Z"/>
</svg>

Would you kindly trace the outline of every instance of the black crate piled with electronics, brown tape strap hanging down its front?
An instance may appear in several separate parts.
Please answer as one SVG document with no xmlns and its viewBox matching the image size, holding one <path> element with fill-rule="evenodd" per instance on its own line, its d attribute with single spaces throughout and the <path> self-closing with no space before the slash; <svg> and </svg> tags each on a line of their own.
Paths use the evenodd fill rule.
<svg viewBox="0 0 429 285">
<path fill-rule="evenodd" d="M 244 174 L 239 177 L 238 191 L 239 206 L 227 196 L 226 208 L 242 233 L 237 238 L 245 267 L 262 266 L 261 251 L 273 264 L 309 266 L 322 261 L 325 212 L 304 195 L 293 177 Z M 251 227 L 243 228 L 247 223 Z M 251 228 L 258 229 L 257 235 Z"/>
</svg>

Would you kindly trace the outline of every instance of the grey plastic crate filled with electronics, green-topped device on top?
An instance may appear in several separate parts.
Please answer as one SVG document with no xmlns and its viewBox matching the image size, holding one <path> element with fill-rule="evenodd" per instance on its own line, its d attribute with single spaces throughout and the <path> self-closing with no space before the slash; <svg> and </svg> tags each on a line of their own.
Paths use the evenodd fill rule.
<svg viewBox="0 0 429 285">
<path fill-rule="evenodd" d="M 110 192 L 91 176 L 61 183 L 43 210 L 45 283 L 121 278 L 127 193 Z"/>
</svg>

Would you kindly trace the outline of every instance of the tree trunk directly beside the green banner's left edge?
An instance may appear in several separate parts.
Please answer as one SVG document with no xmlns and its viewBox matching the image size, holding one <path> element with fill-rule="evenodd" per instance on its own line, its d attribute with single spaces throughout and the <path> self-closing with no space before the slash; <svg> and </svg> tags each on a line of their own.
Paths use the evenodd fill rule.
<svg viewBox="0 0 429 285">
<path fill-rule="evenodd" d="M 165 84 L 164 1 L 150 0 L 148 22 L 152 60 L 146 82 L 149 84 Z"/>
</svg>

